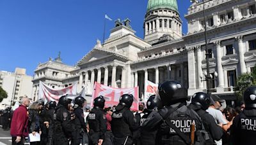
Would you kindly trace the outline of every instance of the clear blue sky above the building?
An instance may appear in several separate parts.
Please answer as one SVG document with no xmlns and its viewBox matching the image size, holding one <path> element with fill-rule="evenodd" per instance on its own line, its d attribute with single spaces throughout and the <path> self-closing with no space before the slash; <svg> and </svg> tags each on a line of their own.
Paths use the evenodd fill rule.
<svg viewBox="0 0 256 145">
<path fill-rule="evenodd" d="M 189 0 L 177 0 L 182 32 L 187 33 L 184 15 Z M 0 70 L 26 69 L 33 76 L 38 63 L 58 57 L 74 66 L 102 41 L 104 15 L 106 36 L 115 20 L 129 18 L 136 36 L 143 38 L 147 0 L 0 0 Z"/>
</svg>

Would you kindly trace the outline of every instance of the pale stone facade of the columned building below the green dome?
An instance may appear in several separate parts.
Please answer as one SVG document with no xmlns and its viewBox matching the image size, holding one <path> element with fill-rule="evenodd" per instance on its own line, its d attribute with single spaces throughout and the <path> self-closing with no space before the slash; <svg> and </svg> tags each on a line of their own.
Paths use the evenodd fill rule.
<svg viewBox="0 0 256 145">
<path fill-rule="evenodd" d="M 188 8 L 188 14 L 185 15 L 188 34 L 184 36 L 181 33 L 179 12 L 168 7 L 156 7 L 158 9 L 147 11 L 145 15 L 145 40 L 138 38 L 131 27 L 117 25 L 111 30 L 109 38 L 102 44 L 97 41 L 95 47 L 79 60 L 76 67 L 54 61 L 40 64 L 35 71 L 33 86 L 38 84 L 38 80 L 58 87 L 78 81 L 79 91 L 83 85 L 92 88 L 97 81 L 118 88 L 139 86 L 141 97 L 146 80 L 162 83 L 166 79 L 173 79 L 188 88 L 189 95 L 205 92 L 202 4 L 193 3 Z M 237 76 L 250 72 L 256 64 L 255 14 L 254 0 L 205 1 L 212 78 L 214 72 L 218 72 L 218 77 L 212 81 L 212 92 L 224 99 L 234 100 Z M 161 29 L 159 20 L 166 20 L 166 24 L 161 24 Z M 169 20 L 172 22 L 170 27 L 167 24 Z M 51 77 L 40 78 L 41 72 Z M 57 72 L 58 78 L 52 76 L 53 72 Z"/>
</svg>

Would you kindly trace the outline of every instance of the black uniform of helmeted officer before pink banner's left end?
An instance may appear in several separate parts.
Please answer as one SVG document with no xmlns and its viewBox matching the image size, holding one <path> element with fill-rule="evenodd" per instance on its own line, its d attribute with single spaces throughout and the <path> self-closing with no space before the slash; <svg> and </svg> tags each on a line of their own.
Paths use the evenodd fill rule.
<svg viewBox="0 0 256 145">
<path fill-rule="evenodd" d="M 107 120 L 102 108 L 93 108 L 87 116 L 90 127 L 89 135 L 92 144 L 98 144 L 99 139 L 105 139 Z"/>
</svg>

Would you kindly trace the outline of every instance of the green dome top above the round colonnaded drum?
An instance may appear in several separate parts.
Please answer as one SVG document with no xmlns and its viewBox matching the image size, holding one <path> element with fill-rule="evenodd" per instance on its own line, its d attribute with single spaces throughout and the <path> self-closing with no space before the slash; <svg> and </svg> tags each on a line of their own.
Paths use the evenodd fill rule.
<svg viewBox="0 0 256 145">
<path fill-rule="evenodd" d="M 148 0 L 147 12 L 157 9 L 170 9 L 178 12 L 177 0 Z"/>
</svg>

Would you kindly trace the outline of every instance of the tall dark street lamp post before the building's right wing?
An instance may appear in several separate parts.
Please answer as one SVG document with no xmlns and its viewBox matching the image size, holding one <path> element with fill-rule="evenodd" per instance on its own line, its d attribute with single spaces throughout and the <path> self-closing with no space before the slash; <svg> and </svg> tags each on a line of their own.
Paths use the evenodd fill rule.
<svg viewBox="0 0 256 145">
<path fill-rule="evenodd" d="M 207 86 L 207 93 L 211 94 L 211 81 L 212 81 L 212 76 L 210 74 L 210 68 L 209 68 L 209 53 L 208 47 L 207 47 L 207 34 L 206 34 L 206 20 L 205 20 L 205 6 L 204 6 L 204 0 L 191 0 L 191 3 L 203 3 L 203 11 L 204 11 L 204 39 L 205 39 L 205 55 L 206 55 L 206 75 L 205 75 L 205 80 L 206 81 L 206 86 Z M 214 72 L 214 75 L 216 73 Z M 218 74 L 216 74 L 218 76 Z M 200 77 L 201 78 L 201 77 Z"/>
</svg>

